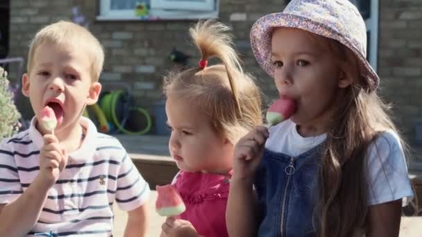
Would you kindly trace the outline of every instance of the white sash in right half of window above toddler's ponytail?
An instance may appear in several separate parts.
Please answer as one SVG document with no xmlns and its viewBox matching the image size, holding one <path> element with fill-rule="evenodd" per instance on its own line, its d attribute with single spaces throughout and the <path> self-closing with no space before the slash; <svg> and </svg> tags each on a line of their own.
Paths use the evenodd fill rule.
<svg viewBox="0 0 422 237">
<path fill-rule="evenodd" d="M 164 9 L 164 10 L 198 10 L 198 11 L 212 11 L 214 10 L 214 0 L 202 0 L 203 2 L 192 1 L 171 1 L 171 0 L 153 0 L 151 1 L 151 9 Z"/>
</svg>

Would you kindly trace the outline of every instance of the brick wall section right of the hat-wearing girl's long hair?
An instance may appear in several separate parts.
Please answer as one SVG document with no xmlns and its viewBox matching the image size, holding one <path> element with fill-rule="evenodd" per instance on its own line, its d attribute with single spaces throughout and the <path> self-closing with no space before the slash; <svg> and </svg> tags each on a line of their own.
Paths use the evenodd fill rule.
<svg viewBox="0 0 422 237">
<path fill-rule="evenodd" d="M 421 150 L 416 146 L 415 128 L 422 123 L 422 1 L 380 2 L 381 94 L 394 104 L 395 119 L 407 141 Z M 420 152 L 416 157 L 421 159 Z"/>
</svg>

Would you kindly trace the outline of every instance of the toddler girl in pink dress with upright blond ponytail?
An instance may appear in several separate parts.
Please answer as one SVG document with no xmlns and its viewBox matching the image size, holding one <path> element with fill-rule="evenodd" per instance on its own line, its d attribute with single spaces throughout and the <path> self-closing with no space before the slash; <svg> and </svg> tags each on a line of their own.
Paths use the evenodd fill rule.
<svg viewBox="0 0 422 237">
<path fill-rule="evenodd" d="M 262 123 L 261 95 L 240 67 L 228 26 L 200 21 L 189 32 L 199 66 L 164 78 L 169 150 L 180 168 L 174 186 L 186 211 L 167 218 L 161 236 L 224 237 L 234 144 Z M 208 66 L 212 57 L 219 62 Z"/>
</svg>

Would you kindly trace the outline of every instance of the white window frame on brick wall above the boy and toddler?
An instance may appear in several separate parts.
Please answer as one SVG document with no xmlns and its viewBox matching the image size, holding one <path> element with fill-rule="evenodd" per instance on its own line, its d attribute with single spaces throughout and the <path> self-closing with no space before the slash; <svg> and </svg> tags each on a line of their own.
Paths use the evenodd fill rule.
<svg viewBox="0 0 422 237">
<path fill-rule="evenodd" d="M 157 19 L 153 19 L 153 20 L 177 20 L 177 19 L 204 19 L 204 18 L 217 18 L 219 15 L 219 1 L 220 0 L 205 0 L 206 3 L 212 3 L 212 5 L 214 6 L 214 10 L 211 11 L 205 11 L 203 9 L 205 9 L 203 6 L 199 7 L 200 10 L 197 10 L 198 8 L 194 8 L 195 10 L 180 10 L 178 7 L 176 8 L 171 8 L 174 10 L 170 10 L 167 9 L 169 8 L 169 6 L 165 6 L 166 9 L 163 8 L 152 8 L 152 1 L 158 1 L 161 4 L 162 3 L 168 3 L 170 1 L 165 1 L 165 0 L 151 0 L 151 9 L 149 9 L 149 13 L 150 15 L 153 15 L 154 17 L 158 17 Z M 99 2 L 99 15 L 96 16 L 96 19 L 101 21 L 101 20 L 105 20 L 105 21 L 126 21 L 126 20 L 142 20 L 140 19 L 140 17 L 137 17 L 135 15 L 135 11 L 134 10 L 111 10 L 110 9 L 110 5 L 111 5 L 111 1 L 110 0 L 98 0 Z M 183 3 L 187 3 L 189 1 L 180 1 Z M 192 9 L 192 1 L 191 4 L 189 6 L 189 8 Z"/>
</svg>

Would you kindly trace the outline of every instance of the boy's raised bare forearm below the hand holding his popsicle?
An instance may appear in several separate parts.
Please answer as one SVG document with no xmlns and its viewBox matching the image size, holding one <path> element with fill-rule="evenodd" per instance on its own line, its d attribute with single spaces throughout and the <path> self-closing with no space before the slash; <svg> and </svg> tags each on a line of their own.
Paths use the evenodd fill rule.
<svg viewBox="0 0 422 237">
<path fill-rule="evenodd" d="M 15 202 L 3 204 L 0 213 L 0 236 L 26 236 L 37 222 L 50 185 L 38 175 Z"/>
</svg>

